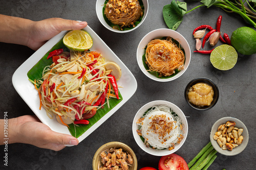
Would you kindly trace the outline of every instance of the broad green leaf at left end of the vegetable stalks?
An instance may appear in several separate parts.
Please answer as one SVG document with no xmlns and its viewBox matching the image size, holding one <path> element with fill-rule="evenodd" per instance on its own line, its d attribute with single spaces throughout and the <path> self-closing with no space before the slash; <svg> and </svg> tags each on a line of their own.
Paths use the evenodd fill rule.
<svg viewBox="0 0 256 170">
<path fill-rule="evenodd" d="M 176 30 L 181 21 L 183 20 L 183 15 L 187 11 L 187 4 L 176 2 L 173 0 L 170 4 L 163 7 L 163 18 L 169 29 Z"/>
</svg>

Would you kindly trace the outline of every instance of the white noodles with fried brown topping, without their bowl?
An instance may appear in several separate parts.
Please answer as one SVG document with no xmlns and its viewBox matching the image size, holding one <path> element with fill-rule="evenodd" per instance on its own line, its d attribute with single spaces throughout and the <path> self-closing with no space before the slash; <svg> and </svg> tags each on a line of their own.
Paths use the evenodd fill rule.
<svg viewBox="0 0 256 170">
<path fill-rule="evenodd" d="M 173 150 L 184 138 L 181 118 L 166 105 L 153 106 L 137 121 L 147 147 Z"/>
</svg>

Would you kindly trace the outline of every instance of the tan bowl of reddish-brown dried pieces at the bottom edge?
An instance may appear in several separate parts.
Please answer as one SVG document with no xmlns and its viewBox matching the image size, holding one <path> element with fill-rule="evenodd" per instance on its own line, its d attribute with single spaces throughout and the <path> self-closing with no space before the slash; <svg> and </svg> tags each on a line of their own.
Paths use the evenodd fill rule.
<svg viewBox="0 0 256 170">
<path fill-rule="evenodd" d="M 109 162 L 108 162 L 109 160 Z M 93 170 L 103 167 L 126 167 L 128 170 L 137 170 L 137 158 L 133 150 L 122 142 L 109 142 L 103 144 L 93 157 Z"/>
</svg>

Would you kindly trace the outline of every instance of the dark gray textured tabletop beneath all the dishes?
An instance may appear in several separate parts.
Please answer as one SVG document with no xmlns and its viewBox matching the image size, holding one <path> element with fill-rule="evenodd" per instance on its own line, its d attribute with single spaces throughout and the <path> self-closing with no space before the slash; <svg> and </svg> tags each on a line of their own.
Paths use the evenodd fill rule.
<svg viewBox="0 0 256 170">
<path fill-rule="evenodd" d="M 163 6 L 168 0 L 149 1 L 149 11 L 143 24 L 130 33 L 118 34 L 105 29 L 99 22 L 95 4 L 96 1 L 0 1 L 0 13 L 14 15 L 31 20 L 42 20 L 51 17 L 87 21 L 88 25 L 114 51 L 135 76 L 138 88 L 132 98 L 115 114 L 105 121 L 97 130 L 79 143 L 76 147 L 67 147 L 59 152 L 39 149 L 32 145 L 15 143 L 8 148 L 8 169 L 92 169 L 92 159 L 97 149 L 104 143 L 120 141 L 128 144 L 136 153 L 138 169 L 144 166 L 157 168 L 160 157 L 152 156 L 142 151 L 132 134 L 132 122 L 136 112 L 144 104 L 154 100 L 166 100 L 174 103 L 184 112 L 188 122 L 188 136 L 182 148 L 176 154 L 187 162 L 209 142 L 211 126 L 221 117 L 236 117 L 247 126 L 249 143 L 247 148 L 237 156 L 218 157 L 209 169 L 255 169 L 255 82 L 256 55 L 243 56 L 232 69 L 220 71 L 215 69 L 209 55 L 193 53 L 195 39 L 193 30 L 203 24 L 216 27 L 219 15 L 223 16 L 221 31 L 231 36 L 239 27 L 249 26 L 240 15 L 224 12 L 220 8 L 198 8 L 186 14 L 180 27 L 176 30 L 188 41 L 192 56 L 186 72 L 172 82 L 160 83 L 147 78 L 139 69 L 136 60 L 136 50 L 139 41 L 148 32 L 167 28 L 162 16 Z M 189 2 L 188 10 L 200 5 L 199 2 Z M 218 42 L 217 45 L 222 44 Z M 34 114 L 20 98 L 12 85 L 12 75 L 34 51 L 26 46 L 0 43 L 0 115 L 8 112 L 9 118 L 25 114 Z M 208 45 L 206 49 L 210 48 Z M 205 112 L 191 109 L 185 102 L 184 89 L 186 84 L 198 77 L 212 79 L 219 87 L 220 98 L 216 106 Z M 0 132 L 0 133 L 3 133 Z M 0 169 L 4 167 L 4 147 L 0 146 Z"/>
</svg>

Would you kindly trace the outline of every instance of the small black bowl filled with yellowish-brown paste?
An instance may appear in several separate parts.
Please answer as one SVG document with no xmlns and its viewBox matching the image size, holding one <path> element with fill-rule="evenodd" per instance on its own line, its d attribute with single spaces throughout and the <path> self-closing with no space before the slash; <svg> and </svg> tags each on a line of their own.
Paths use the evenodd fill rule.
<svg viewBox="0 0 256 170">
<path fill-rule="evenodd" d="M 219 89 L 208 78 L 196 78 L 187 84 L 184 95 L 191 108 L 205 111 L 214 107 L 218 102 Z"/>
</svg>

